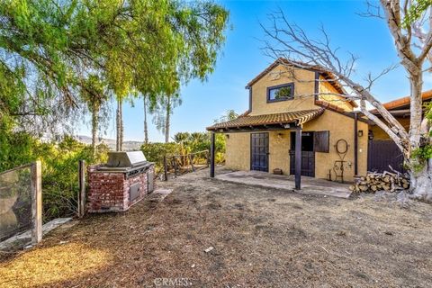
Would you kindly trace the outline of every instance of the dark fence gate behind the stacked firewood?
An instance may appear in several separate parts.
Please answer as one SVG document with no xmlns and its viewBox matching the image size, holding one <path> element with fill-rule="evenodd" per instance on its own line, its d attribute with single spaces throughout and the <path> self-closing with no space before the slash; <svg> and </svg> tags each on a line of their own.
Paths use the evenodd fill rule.
<svg viewBox="0 0 432 288">
<path fill-rule="evenodd" d="M 367 150 L 367 170 L 383 173 L 389 165 L 396 171 L 405 173 L 403 155 L 392 140 L 370 140 Z"/>
</svg>

